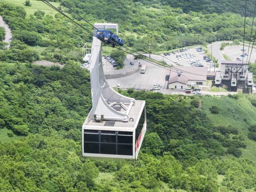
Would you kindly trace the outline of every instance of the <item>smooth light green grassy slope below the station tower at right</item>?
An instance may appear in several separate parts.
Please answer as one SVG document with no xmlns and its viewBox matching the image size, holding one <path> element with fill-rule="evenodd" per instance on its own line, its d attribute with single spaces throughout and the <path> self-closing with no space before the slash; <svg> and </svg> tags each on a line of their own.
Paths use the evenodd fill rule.
<svg viewBox="0 0 256 192">
<path fill-rule="evenodd" d="M 211 106 L 218 106 L 219 114 L 212 114 L 209 111 Z M 247 148 L 242 149 L 242 157 L 256 160 L 256 142 L 247 138 L 249 125 L 256 124 L 256 108 L 252 106 L 247 95 L 239 94 L 238 100 L 228 97 L 204 96 L 202 97 L 202 110 L 216 126 L 231 125 L 237 128 L 247 144 Z"/>
</svg>

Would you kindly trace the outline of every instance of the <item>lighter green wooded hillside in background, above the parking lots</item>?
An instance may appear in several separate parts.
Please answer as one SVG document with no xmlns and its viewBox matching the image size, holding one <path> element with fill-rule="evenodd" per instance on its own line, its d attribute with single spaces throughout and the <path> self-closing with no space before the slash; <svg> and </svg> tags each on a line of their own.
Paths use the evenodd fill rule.
<svg viewBox="0 0 256 192">
<path fill-rule="evenodd" d="M 32 62 L 45 59 L 63 64 L 68 60 L 81 62 L 80 47 L 85 42 L 90 42 L 91 36 L 80 27 L 60 14 L 54 14 L 55 12 L 53 10 L 51 12 L 50 8 L 41 1 L 32 0 L 32 6 L 24 6 L 21 0 L 0 2 L 11 3 L 0 4 L 0 14 L 12 29 L 14 36 L 12 43 L 14 51 L 12 54 L 10 51 L 0 51 L 0 60 Z M 181 8 L 173 8 L 157 1 L 150 5 L 132 0 L 118 2 L 64 0 L 64 2 L 92 24 L 118 23 L 125 46 L 136 51 L 148 52 L 149 43 L 152 51 L 158 52 L 216 40 L 243 38 L 244 18 L 238 14 L 184 13 Z M 59 7 L 58 2 L 52 3 Z M 63 6 L 60 8 L 80 20 L 67 8 Z M 82 20 L 78 22 L 92 30 L 86 22 Z M 252 18 L 248 18 L 246 40 L 250 37 L 251 22 Z M 19 47 L 16 46 L 17 44 Z M 108 52 L 112 50 L 108 47 L 107 49 Z"/>
</svg>

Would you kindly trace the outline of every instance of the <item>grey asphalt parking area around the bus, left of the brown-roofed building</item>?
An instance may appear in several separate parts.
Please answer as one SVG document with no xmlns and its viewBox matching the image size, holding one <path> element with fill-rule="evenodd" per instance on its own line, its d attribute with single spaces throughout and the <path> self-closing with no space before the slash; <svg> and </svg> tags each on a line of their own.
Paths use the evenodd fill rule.
<svg viewBox="0 0 256 192">
<path fill-rule="evenodd" d="M 178 60 L 176 58 L 176 55 L 179 54 L 185 54 L 185 53 L 191 53 L 194 54 L 195 57 L 184 59 L 184 60 Z M 148 56 L 148 54 L 146 54 Z M 151 54 L 151 58 L 154 58 L 159 61 L 166 61 L 167 64 L 173 64 L 174 66 L 177 66 L 174 64 L 174 62 L 178 62 L 179 65 L 182 66 L 190 66 L 188 63 L 189 60 L 199 60 L 205 67 L 208 67 L 208 63 L 203 59 L 204 54 L 199 54 L 199 52 L 196 51 L 195 48 L 190 48 L 185 52 L 177 53 L 176 54 L 170 54 L 167 56 L 164 55 L 153 55 Z M 134 62 L 134 66 L 130 65 L 130 61 Z M 108 79 L 110 86 L 116 87 L 117 84 L 120 84 L 120 88 L 127 89 L 127 88 L 134 88 L 135 90 L 152 90 L 154 84 L 160 84 L 161 88 L 160 91 L 166 89 L 167 86 L 167 76 L 170 74 L 170 71 L 164 68 L 160 68 L 154 64 L 151 64 L 149 62 L 146 62 L 144 60 L 134 60 L 133 56 L 128 55 L 127 60 L 124 62 L 125 68 L 121 70 L 114 70 L 112 68 L 111 64 L 109 62 L 106 62 L 104 65 L 104 73 L 120 73 L 128 71 L 136 66 L 138 66 L 138 63 L 141 63 L 142 65 L 147 65 L 147 70 L 145 74 L 141 74 L 140 71 L 135 72 L 134 74 L 122 78 L 114 78 L 114 79 Z M 190 66 L 191 67 L 191 66 Z"/>
</svg>

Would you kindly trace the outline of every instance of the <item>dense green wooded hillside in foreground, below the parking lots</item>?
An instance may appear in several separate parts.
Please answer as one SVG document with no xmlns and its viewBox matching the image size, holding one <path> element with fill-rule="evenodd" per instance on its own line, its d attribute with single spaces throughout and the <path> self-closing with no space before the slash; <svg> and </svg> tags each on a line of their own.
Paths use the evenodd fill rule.
<svg viewBox="0 0 256 192">
<path fill-rule="evenodd" d="M 137 162 L 81 157 L 89 73 L 0 64 L 0 191 L 253 191 L 255 98 L 122 92 L 147 103 Z M 202 103 L 202 109 L 200 109 Z M 213 106 L 217 107 L 212 110 Z M 3 139 L 4 138 L 4 139 Z M 250 171 L 247 171 L 250 170 Z"/>
</svg>

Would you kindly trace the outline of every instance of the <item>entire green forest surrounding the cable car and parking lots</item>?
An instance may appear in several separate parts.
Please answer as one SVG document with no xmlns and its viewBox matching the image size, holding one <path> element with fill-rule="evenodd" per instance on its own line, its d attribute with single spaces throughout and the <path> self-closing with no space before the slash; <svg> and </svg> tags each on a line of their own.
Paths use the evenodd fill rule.
<svg viewBox="0 0 256 192">
<path fill-rule="evenodd" d="M 82 158 L 81 127 L 91 108 L 91 87 L 90 73 L 80 67 L 80 48 L 92 37 L 60 14 L 44 8 L 27 14 L 31 10 L 14 4 L 17 0 L 6 2 L 0 0 L 0 15 L 13 40 L 10 49 L 0 46 L 1 192 L 256 191 L 256 97 L 246 94 L 118 90 L 146 100 L 147 133 L 138 160 Z M 153 51 L 194 45 L 198 33 L 200 44 L 240 40 L 243 34 L 239 0 L 233 7 L 223 1 L 227 9 L 217 0 L 64 2 L 92 23 L 117 22 L 126 45 L 137 51 L 147 52 L 148 42 Z M 212 6 L 203 10 L 208 2 Z M 0 28 L 0 41 L 4 33 Z M 36 60 L 64 67 L 32 64 Z"/>
</svg>

